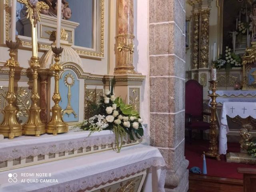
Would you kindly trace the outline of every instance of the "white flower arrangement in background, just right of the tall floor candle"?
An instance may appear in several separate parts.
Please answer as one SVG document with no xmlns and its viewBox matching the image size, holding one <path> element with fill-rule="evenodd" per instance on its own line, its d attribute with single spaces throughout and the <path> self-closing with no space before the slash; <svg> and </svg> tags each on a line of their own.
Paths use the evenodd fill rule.
<svg viewBox="0 0 256 192">
<path fill-rule="evenodd" d="M 220 59 L 213 61 L 216 69 L 241 67 L 241 62 L 241 57 L 231 52 L 231 48 L 229 48 L 228 46 L 226 46 L 225 55 L 222 56 Z"/>
</svg>

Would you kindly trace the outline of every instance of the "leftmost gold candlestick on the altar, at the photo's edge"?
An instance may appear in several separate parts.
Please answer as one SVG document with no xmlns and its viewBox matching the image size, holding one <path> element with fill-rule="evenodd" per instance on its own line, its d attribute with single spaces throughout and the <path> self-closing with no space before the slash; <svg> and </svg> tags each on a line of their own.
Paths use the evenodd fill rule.
<svg viewBox="0 0 256 192">
<path fill-rule="evenodd" d="M 16 67 L 19 67 L 18 61 L 16 61 L 14 58 L 16 56 L 19 44 L 19 42 L 12 42 L 6 40 L 6 45 L 8 46 L 8 48 L 10 48 L 10 59 L 7 60 L 4 66 L 10 68 L 9 90 L 6 95 L 8 105 L 4 108 L 4 121 L 0 125 L 0 134 L 3 134 L 4 137 L 8 137 L 9 139 L 13 139 L 14 137 L 22 135 L 22 126 L 18 123 L 16 119 L 17 109 L 14 105 L 14 102 L 16 100 L 16 96 L 14 94 L 14 70 Z"/>
</svg>

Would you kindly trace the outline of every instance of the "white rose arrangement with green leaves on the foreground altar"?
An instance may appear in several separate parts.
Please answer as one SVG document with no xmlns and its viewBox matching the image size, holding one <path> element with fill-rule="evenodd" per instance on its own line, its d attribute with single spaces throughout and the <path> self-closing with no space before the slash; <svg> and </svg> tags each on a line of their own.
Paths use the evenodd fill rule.
<svg viewBox="0 0 256 192">
<path fill-rule="evenodd" d="M 101 96 L 93 112 L 95 115 L 84 120 L 77 127 L 91 131 L 90 134 L 96 131 L 112 130 L 116 137 L 117 152 L 120 152 L 124 136 L 128 134 L 131 140 L 140 139 L 144 130 L 139 113 L 133 109 L 132 105 L 125 104 L 122 98 L 116 98 L 114 95 L 114 82 L 114 80 L 111 82 L 111 90 L 105 90 L 104 96 Z"/>
</svg>

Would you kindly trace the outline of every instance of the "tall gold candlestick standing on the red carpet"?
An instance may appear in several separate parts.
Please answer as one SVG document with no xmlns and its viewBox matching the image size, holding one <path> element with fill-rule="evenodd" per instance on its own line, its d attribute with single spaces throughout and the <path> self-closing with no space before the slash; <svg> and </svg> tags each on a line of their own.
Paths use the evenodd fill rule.
<svg viewBox="0 0 256 192">
<path fill-rule="evenodd" d="M 210 145 L 209 145 L 209 151 L 205 153 L 206 156 L 209 157 L 214 157 L 216 158 L 218 161 L 220 161 L 220 154 L 218 152 L 218 145 L 217 145 L 217 116 L 216 116 L 216 110 L 217 110 L 217 102 L 216 102 L 216 98 L 219 96 L 218 94 L 216 94 L 216 90 L 217 90 L 217 83 L 218 81 L 209 81 L 210 84 L 212 84 L 211 86 L 211 90 L 212 90 L 212 94 L 209 94 L 208 96 L 210 96 L 212 98 L 212 102 L 211 104 L 211 118 L 210 118 Z"/>
</svg>

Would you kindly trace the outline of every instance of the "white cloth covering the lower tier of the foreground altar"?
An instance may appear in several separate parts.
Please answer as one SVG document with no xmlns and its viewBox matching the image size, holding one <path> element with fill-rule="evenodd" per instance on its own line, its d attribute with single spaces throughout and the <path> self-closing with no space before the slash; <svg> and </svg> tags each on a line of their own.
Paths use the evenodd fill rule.
<svg viewBox="0 0 256 192">
<path fill-rule="evenodd" d="M 120 153 L 108 150 L 0 172 L 0 192 L 76 192 L 140 172 L 152 166 L 163 170 L 160 171 L 161 174 L 159 174 L 161 169 L 152 172 L 150 179 L 156 183 L 146 186 L 144 192 L 161 192 L 164 191 L 165 165 L 164 158 L 157 148 L 137 144 L 122 148 Z M 48 176 L 24 177 L 26 173 L 47 173 Z M 8 176 L 10 176 L 8 174 L 14 176 L 17 174 L 17 182 L 8 181 Z M 153 178 L 158 178 L 158 180 Z M 22 179 L 25 182 L 22 182 Z M 28 183 L 27 179 L 38 179 L 38 182 Z M 58 180 L 58 183 L 40 182 L 40 179 L 54 179 Z M 158 186 L 158 189 L 152 189 L 152 186 Z"/>
</svg>

